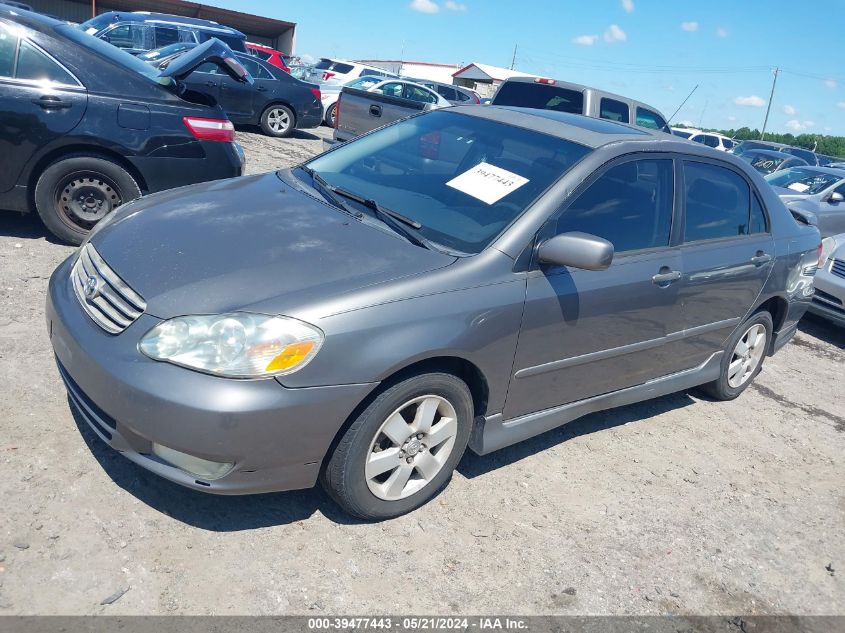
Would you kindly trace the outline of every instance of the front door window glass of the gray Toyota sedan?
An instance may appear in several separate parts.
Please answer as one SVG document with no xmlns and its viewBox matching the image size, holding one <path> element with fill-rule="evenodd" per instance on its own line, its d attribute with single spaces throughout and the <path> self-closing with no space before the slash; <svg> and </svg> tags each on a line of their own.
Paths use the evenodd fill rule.
<svg viewBox="0 0 845 633">
<path fill-rule="evenodd" d="M 582 231 L 610 241 L 617 253 L 669 245 L 674 173 L 669 159 L 611 167 L 561 214 L 557 233 Z"/>
</svg>

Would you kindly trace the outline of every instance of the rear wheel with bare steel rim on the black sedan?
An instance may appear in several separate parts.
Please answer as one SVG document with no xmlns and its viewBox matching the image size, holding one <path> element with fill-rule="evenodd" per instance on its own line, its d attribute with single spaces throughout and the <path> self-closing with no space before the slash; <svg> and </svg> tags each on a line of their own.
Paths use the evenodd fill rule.
<svg viewBox="0 0 845 633">
<path fill-rule="evenodd" d="M 51 163 L 35 185 L 35 209 L 63 242 L 81 244 L 121 204 L 141 196 L 132 175 L 103 157 L 74 155 Z"/>
</svg>

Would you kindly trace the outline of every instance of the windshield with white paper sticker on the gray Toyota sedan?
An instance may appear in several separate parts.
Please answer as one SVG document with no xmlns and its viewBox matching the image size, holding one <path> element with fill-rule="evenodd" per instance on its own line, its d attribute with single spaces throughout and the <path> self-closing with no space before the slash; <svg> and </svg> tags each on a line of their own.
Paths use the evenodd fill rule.
<svg viewBox="0 0 845 633">
<path fill-rule="evenodd" d="M 474 254 L 589 152 L 441 110 L 382 128 L 306 166 L 329 185 L 418 222 L 430 242 Z"/>
</svg>

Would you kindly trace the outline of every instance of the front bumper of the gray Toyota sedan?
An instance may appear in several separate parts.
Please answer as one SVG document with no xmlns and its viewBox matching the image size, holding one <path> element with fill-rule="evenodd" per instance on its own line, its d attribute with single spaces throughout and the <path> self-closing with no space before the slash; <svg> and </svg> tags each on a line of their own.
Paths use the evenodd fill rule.
<svg viewBox="0 0 845 633">
<path fill-rule="evenodd" d="M 308 488 L 346 418 L 374 384 L 288 389 L 273 379 L 233 380 L 150 360 L 137 341 L 159 319 L 142 315 L 117 336 L 83 312 L 72 258 L 50 279 L 47 326 L 68 396 L 101 440 L 183 486 L 217 494 Z M 152 454 L 152 443 L 215 462 L 203 481 Z"/>
</svg>

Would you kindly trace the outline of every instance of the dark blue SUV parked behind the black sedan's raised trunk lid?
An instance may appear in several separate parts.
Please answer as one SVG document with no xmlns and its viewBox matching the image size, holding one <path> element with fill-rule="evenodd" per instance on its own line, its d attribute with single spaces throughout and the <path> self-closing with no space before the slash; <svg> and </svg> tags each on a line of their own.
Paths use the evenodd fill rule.
<svg viewBox="0 0 845 633">
<path fill-rule="evenodd" d="M 246 53 L 246 35 L 229 26 L 168 13 L 109 11 L 79 25 L 89 35 L 137 55 L 177 42 L 201 44 L 217 38 L 233 51 Z"/>
</svg>

